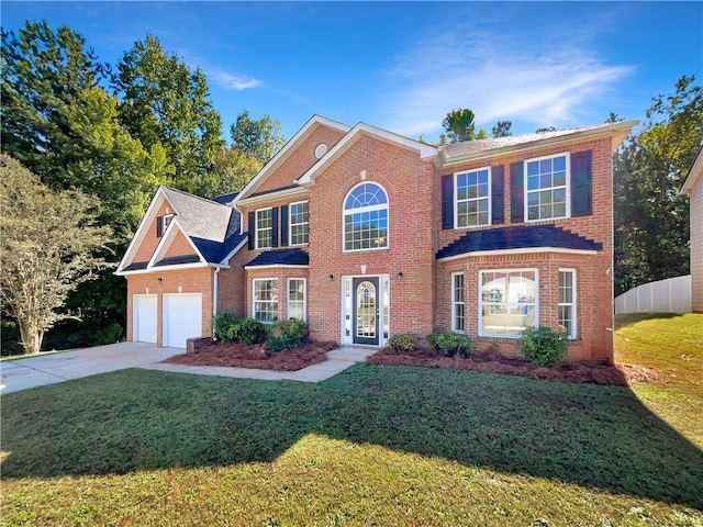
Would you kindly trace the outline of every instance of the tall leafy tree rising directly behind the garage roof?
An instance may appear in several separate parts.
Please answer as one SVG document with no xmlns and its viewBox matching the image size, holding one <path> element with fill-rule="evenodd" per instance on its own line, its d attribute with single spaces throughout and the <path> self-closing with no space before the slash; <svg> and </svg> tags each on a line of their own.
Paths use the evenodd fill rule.
<svg viewBox="0 0 703 527">
<path fill-rule="evenodd" d="M 134 43 L 118 70 L 121 122 L 147 150 L 164 146 L 175 187 L 204 195 L 213 155 L 224 142 L 203 71 L 167 54 L 152 35 Z"/>
</svg>

